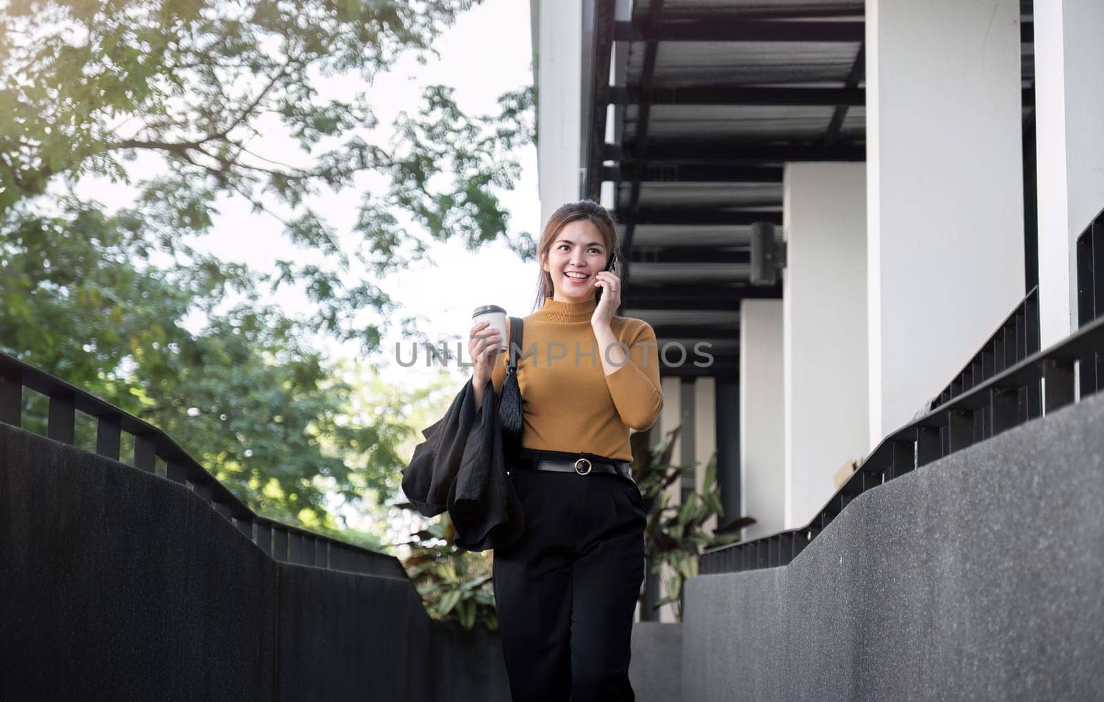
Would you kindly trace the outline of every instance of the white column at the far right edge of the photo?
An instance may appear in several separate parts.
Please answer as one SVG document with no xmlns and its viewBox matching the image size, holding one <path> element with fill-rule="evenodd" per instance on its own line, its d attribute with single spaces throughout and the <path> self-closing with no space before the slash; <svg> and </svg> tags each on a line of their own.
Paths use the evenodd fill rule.
<svg viewBox="0 0 1104 702">
<path fill-rule="evenodd" d="M 1104 2 L 1034 4 L 1042 348 L 1078 326 L 1076 241 L 1104 209 Z"/>
</svg>

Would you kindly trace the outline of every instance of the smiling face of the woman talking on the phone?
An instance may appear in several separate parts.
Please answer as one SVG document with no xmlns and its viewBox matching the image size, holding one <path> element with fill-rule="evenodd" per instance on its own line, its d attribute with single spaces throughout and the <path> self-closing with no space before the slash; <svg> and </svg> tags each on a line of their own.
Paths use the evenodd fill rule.
<svg viewBox="0 0 1104 702">
<path fill-rule="evenodd" d="M 583 302 L 593 298 L 597 291 L 594 274 L 605 269 L 607 260 L 606 243 L 593 222 L 575 220 L 565 224 L 541 263 L 541 268 L 552 276 L 552 299 Z"/>
</svg>

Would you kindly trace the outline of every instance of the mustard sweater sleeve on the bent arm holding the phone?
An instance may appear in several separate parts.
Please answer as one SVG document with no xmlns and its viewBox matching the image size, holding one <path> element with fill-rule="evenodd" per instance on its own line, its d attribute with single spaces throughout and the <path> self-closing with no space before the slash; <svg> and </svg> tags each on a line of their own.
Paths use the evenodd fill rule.
<svg viewBox="0 0 1104 702">
<path fill-rule="evenodd" d="M 647 322 L 628 343 L 628 360 L 606 375 L 606 386 L 622 422 L 638 432 L 649 428 L 664 408 L 664 392 L 659 384 L 659 349 L 656 332 Z"/>
</svg>

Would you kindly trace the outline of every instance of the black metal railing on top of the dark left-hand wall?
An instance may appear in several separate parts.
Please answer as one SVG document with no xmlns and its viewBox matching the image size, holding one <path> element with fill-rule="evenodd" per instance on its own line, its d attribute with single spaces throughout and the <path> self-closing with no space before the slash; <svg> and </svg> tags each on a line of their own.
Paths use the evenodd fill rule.
<svg viewBox="0 0 1104 702">
<path fill-rule="evenodd" d="M 119 460 L 123 434 L 134 437 L 134 468 L 153 474 L 164 461 L 164 477 L 190 488 L 277 561 L 335 571 L 405 579 L 391 555 L 258 517 L 161 429 L 50 373 L 0 352 L 0 422 L 22 426 L 23 389 L 49 398 L 46 436 L 75 446 L 77 412 L 96 422 L 95 453 Z"/>
</svg>

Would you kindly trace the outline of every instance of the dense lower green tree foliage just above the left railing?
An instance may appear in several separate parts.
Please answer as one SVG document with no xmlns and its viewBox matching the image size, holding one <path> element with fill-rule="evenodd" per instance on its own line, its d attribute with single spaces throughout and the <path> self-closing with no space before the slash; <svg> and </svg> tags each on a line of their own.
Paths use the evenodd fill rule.
<svg viewBox="0 0 1104 702">
<path fill-rule="evenodd" d="M 141 222 L 81 209 L 4 222 L 0 347 L 163 428 L 268 515 L 336 528 L 327 496 L 393 491 L 411 432 L 400 398 L 353 412 L 342 376 L 363 373 L 335 372 L 256 276 L 184 247 L 155 265 Z"/>
</svg>

